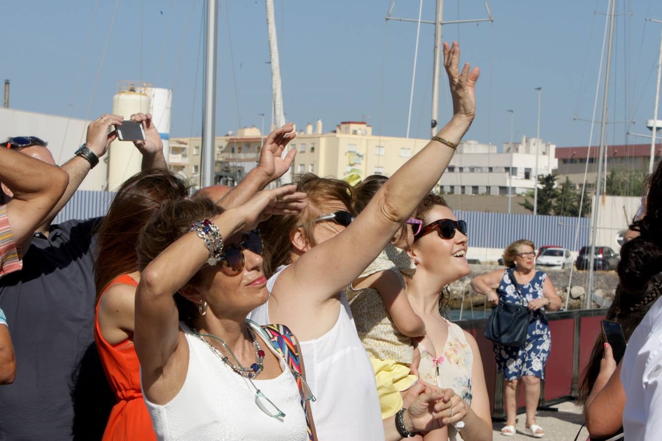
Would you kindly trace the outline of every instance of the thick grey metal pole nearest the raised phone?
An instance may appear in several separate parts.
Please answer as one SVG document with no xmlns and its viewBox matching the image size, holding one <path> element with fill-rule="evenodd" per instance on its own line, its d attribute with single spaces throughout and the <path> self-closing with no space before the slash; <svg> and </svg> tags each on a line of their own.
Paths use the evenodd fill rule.
<svg viewBox="0 0 662 441">
<path fill-rule="evenodd" d="M 205 99 L 203 104 L 202 186 L 214 184 L 216 172 L 216 16 L 218 0 L 207 0 L 207 35 L 205 37 Z"/>
</svg>

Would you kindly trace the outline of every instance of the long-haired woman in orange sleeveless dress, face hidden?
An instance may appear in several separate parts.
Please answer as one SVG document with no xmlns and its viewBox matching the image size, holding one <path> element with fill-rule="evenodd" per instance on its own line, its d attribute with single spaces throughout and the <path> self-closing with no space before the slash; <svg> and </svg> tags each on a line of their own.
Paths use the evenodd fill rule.
<svg viewBox="0 0 662 441">
<path fill-rule="evenodd" d="M 187 186 L 166 169 L 138 173 L 122 184 L 99 227 L 94 338 L 117 398 L 104 441 L 156 440 L 140 391 L 140 364 L 133 346 L 134 298 L 140 281 L 135 248 L 152 213 L 187 192 Z"/>
</svg>

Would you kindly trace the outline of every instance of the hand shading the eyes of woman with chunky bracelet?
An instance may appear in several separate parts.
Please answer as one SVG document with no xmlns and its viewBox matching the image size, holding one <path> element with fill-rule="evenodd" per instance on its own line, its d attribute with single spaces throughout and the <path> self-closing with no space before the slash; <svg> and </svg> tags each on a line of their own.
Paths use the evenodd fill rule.
<svg viewBox="0 0 662 441">
<path fill-rule="evenodd" d="M 245 227 L 253 229 L 261 221 L 265 221 L 272 214 L 299 214 L 306 208 L 308 201 L 306 194 L 297 192 L 295 184 L 285 185 L 273 190 L 262 190 L 250 198 L 245 204 L 236 208 L 242 213 Z"/>
</svg>

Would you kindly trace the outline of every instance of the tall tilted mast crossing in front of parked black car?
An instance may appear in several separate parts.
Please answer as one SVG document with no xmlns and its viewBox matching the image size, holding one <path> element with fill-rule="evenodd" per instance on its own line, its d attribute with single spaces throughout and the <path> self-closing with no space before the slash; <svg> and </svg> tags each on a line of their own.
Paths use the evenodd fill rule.
<svg viewBox="0 0 662 441">
<path fill-rule="evenodd" d="M 598 151 L 598 177 L 595 184 L 595 206 L 593 207 L 593 231 L 591 231 L 591 255 L 589 257 L 589 290 L 586 293 L 586 309 L 591 309 L 593 298 L 593 265 L 595 262 L 595 239 L 598 232 L 598 212 L 600 212 L 600 202 L 598 201 L 598 190 L 600 188 L 600 179 L 602 179 L 602 167 L 600 159 L 604 154 L 604 135 L 607 127 L 607 104 L 609 99 L 609 75 L 612 63 L 612 45 L 614 43 L 614 17 L 616 17 L 616 0 L 611 2 L 611 20 L 609 24 L 609 46 L 607 49 L 607 69 L 604 75 L 604 99 L 602 100 L 602 121 L 600 122 L 600 151 Z M 587 159 L 588 161 L 589 159 Z"/>
</svg>

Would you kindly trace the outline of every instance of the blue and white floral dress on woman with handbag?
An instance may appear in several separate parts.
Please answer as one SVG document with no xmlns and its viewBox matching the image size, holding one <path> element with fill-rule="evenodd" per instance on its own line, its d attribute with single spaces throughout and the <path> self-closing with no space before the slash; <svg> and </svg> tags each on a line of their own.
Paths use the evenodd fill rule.
<svg viewBox="0 0 662 441">
<path fill-rule="evenodd" d="M 516 305 L 528 305 L 532 300 L 543 298 L 543 285 L 547 274 L 536 271 L 534 278 L 524 285 L 519 285 L 520 295 L 517 294 L 514 284 L 516 280 L 510 281 L 508 271 L 505 271 L 501 283 L 496 290 L 499 299 L 505 303 Z M 514 283 L 514 284 L 513 284 Z M 526 346 L 505 346 L 495 343 L 496 368 L 504 372 L 506 380 L 517 380 L 529 375 L 545 380 L 545 363 L 551 350 L 551 333 L 545 317 L 544 308 L 534 311 L 526 336 Z"/>
</svg>

